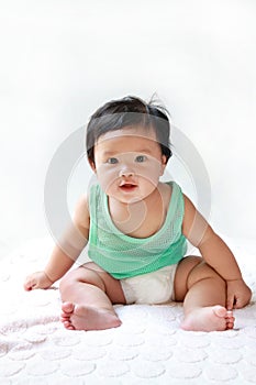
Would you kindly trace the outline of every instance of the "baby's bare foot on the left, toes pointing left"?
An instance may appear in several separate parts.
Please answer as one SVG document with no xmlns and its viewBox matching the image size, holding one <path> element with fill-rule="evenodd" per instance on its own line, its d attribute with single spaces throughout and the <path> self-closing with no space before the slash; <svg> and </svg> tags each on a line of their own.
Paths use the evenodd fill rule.
<svg viewBox="0 0 256 385">
<path fill-rule="evenodd" d="M 92 306 L 64 302 L 62 310 L 60 321 L 68 330 L 104 330 L 122 323 L 113 311 Z"/>
</svg>

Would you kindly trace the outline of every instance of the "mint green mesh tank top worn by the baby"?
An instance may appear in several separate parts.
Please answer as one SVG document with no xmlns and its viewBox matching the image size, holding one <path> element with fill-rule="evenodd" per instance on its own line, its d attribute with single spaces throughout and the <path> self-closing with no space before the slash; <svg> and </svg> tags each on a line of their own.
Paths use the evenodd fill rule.
<svg viewBox="0 0 256 385">
<path fill-rule="evenodd" d="M 187 241 L 181 233 L 183 196 L 175 182 L 169 182 L 171 197 L 165 223 L 155 234 L 138 239 L 123 234 L 113 223 L 108 197 L 99 185 L 90 188 L 89 257 L 122 279 L 154 272 L 178 263 L 187 251 Z"/>
</svg>

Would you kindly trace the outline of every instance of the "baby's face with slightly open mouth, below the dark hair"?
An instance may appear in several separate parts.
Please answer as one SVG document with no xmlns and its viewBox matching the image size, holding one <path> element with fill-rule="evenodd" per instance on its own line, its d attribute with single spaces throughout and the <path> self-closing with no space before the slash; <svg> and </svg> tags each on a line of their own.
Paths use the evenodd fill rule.
<svg viewBox="0 0 256 385">
<path fill-rule="evenodd" d="M 101 187 L 124 204 L 152 194 L 165 166 L 153 129 L 123 128 L 101 135 L 94 145 L 94 172 Z"/>
</svg>

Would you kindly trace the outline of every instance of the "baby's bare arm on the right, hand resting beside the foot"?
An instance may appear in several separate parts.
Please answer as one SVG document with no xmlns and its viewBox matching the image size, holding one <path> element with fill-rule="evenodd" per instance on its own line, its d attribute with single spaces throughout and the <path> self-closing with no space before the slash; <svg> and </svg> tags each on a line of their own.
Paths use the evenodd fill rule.
<svg viewBox="0 0 256 385">
<path fill-rule="evenodd" d="M 182 232 L 199 249 L 203 260 L 226 280 L 227 309 L 241 308 L 247 305 L 252 292 L 242 277 L 232 251 L 186 196 Z"/>
</svg>

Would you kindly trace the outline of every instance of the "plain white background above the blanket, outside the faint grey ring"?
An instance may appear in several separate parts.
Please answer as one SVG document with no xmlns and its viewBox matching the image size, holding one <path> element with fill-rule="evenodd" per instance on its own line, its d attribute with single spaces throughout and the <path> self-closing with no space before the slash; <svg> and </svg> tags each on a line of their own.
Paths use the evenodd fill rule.
<svg viewBox="0 0 256 385">
<path fill-rule="evenodd" d="M 204 161 L 212 226 L 255 239 L 255 20 L 254 0 L 0 1 L 1 248 L 48 234 L 60 143 L 105 101 L 154 92 Z"/>
</svg>

